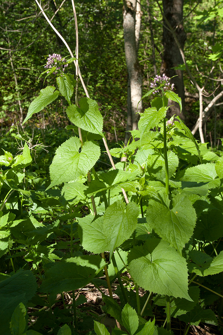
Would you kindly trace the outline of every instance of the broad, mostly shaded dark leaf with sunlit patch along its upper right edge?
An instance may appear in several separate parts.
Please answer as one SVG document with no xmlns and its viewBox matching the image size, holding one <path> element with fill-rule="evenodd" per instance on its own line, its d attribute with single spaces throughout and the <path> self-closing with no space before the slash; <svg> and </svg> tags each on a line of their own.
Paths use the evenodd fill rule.
<svg viewBox="0 0 223 335">
<path fill-rule="evenodd" d="M 105 266 L 97 255 L 71 257 L 46 270 L 41 292 L 57 294 L 86 286 Z"/>
</svg>

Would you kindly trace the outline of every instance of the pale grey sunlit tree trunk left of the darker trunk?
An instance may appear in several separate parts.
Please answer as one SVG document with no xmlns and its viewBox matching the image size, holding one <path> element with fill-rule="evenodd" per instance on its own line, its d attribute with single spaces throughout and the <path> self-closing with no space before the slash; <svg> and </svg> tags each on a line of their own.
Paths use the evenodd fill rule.
<svg viewBox="0 0 223 335">
<path fill-rule="evenodd" d="M 138 46 L 141 25 L 140 0 L 124 0 L 123 28 L 126 64 L 128 70 L 128 107 L 127 107 L 127 127 L 125 145 L 128 143 L 131 133 L 138 126 L 139 114 L 142 112 L 142 73 L 138 61 Z M 137 109 L 138 105 L 138 109 Z"/>
</svg>

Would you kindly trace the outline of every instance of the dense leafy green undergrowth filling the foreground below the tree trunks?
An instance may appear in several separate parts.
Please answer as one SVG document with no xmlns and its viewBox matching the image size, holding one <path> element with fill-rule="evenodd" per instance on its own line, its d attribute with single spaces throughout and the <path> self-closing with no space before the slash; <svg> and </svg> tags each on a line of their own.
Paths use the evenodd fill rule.
<svg viewBox="0 0 223 335">
<path fill-rule="evenodd" d="M 32 142 L 15 128 L 1 139 L 2 335 L 109 334 L 78 294 L 89 283 L 108 289 L 113 335 L 178 334 L 174 320 L 184 334 L 221 327 L 223 155 L 166 119 L 168 99 L 181 101 L 164 79 L 145 95 L 155 93 L 131 142 L 110 150 L 115 165 L 97 102 L 72 103 L 69 73 L 41 90 L 25 121 L 62 95 L 70 126 L 46 131 L 46 147 L 37 130 Z"/>
</svg>

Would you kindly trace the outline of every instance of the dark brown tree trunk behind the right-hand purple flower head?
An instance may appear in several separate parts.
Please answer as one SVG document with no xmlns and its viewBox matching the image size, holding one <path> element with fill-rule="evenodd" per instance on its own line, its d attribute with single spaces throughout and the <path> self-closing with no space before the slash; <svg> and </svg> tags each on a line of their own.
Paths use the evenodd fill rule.
<svg viewBox="0 0 223 335">
<path fill-rule="evenodd" d="M 177 40 L 183 49 L 186 40 L 186 34 L 183 30 L 183 0 L 163 0 L 163 13 L 169 21 L 171 27 L 174 29 Z M 169 105 L 173 105 L 168 109 L 169 117 L 173 114 L 184 117 L 184 84 L 183 84 L 183 71 L 174 70 L 173 67 L 183 64 L 183 60 L 179 48 L 174 41 L 172 33 L 165 28 L 166 23 L 163 20 L 163 60 L 160 69 L 160 74 L 165 73 L 168 77 L 173 77 L 171 83 L 174 83 L 175 92 L 182 100 L 182 112 L 180 114 L 179 105 L 173 101 L 169 101 Z"/>
</svg>

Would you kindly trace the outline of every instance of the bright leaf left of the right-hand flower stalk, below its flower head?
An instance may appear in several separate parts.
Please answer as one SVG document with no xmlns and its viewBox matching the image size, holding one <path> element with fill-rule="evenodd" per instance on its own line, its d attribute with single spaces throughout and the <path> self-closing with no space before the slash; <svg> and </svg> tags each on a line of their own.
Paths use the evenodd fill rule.
<svg viewBox="0 0 223 335">
<path fill-rule="evenodd" d="M 149 107 L 140 115 L 138 123 L 139 131 L 142 135 L 153 129 L 166 116 L 167 107 L 161 107 L 158 111 L 155 107 Z"/>
</svg>

